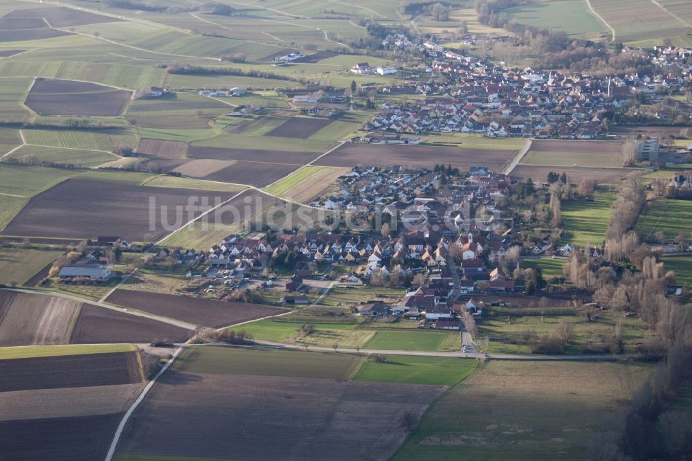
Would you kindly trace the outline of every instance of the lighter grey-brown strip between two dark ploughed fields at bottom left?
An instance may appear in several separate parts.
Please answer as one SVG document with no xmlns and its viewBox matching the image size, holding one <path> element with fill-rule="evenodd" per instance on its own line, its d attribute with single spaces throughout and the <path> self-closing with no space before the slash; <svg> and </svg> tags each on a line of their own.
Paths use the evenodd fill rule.
<svg viewBox="0 0 692 461">
<path fill-rule="evenodd" d="M 0 392 L 0 421 L 108 415 L 127 410 L 145 383 Z"/>
</svg>

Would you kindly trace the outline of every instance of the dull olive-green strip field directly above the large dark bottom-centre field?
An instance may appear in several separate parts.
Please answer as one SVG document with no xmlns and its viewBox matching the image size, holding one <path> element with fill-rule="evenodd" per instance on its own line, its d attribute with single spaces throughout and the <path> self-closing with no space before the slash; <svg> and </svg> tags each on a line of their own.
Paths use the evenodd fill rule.
<svg viewBox="0 0 692 461">
<path fill-rule="evenodd" d="M 186 349 L 174 367 L 190 373 L 351 379 L 361 361 L 353 354 L 197 346 Z"/>
</svg>

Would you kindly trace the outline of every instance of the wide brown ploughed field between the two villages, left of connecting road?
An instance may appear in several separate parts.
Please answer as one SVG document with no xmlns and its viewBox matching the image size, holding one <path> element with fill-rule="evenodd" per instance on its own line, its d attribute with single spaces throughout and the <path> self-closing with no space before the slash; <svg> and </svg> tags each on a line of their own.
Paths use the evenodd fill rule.
<svg viewBox="0 0 692 461">
<path fill-rule="evenodd" d="M 404 168 L 431 168 L 436 163 L 452 165 L 462 171 L 471 166 L 500 170 L 516 154 L 514 150 L 464 149 L 425 145 L 375 145 L 347 143 L 316 161 L 315 165 L 353 168 L 355 166 L 401 165 Z"/>
</svg>

